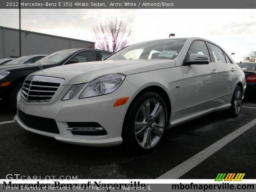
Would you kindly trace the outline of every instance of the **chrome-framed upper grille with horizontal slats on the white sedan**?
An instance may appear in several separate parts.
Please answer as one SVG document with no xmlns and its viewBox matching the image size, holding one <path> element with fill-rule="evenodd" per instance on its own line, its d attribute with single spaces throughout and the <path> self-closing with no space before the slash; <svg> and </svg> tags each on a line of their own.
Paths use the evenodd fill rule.
<svg viewBox="0 0 256 192">
<path fill-rule="evenodd" d="M 27 102 L 51 101 L 64 79 L 46 76 L 28 76 L 24 81 L 21 96 Z"/>
</svg>

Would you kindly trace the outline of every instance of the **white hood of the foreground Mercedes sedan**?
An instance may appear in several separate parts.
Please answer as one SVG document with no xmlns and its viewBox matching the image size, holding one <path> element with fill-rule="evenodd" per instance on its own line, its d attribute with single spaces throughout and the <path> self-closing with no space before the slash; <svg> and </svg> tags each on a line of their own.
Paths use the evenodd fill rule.
<svg viewBox="0 0 256 192">
<path fill-rule="evenodd" d="M 174 66 L 174 60 L 164 59 L 106 60 L 48 68 L 35 72 L 33 75 L 64 78 L 64 84 L 71 85 L 90 82 L 106 74 L 122 73 L 124 75 L 130 75 Z"/>
</svg>

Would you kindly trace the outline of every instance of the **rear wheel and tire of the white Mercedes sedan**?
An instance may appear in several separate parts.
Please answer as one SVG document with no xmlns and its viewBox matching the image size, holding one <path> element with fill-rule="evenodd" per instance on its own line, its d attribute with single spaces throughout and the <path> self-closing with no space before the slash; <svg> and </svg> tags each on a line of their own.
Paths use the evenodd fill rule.
<svg viewBox="0 0 256 192">
<path fill-rule="evenodd" d="M 239 86 L 236 86 L 232 100 L 230 109 L 224 111 L 226 115 L 229 117 L 237 117 L 242 110 L 242 89 Z"/>
</svg>

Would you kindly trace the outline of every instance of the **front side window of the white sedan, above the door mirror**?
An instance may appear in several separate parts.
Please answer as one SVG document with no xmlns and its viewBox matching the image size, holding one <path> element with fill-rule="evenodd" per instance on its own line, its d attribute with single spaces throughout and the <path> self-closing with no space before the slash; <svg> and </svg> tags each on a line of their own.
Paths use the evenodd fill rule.
<svg viewBox="0 0 256 192">
<path fill-rule="evenodd" d="M 188 54 L 186 55 L 186 61 L 189 61 L 189 55 L 190 54 L 201 54 L 201 55 L 207 55 L 210 61 L 210 54 L 208 51 L 208 48 L 206 46 L 206 43 L 204 41 L 194 41 L 192 42 Z"/>
</svg>

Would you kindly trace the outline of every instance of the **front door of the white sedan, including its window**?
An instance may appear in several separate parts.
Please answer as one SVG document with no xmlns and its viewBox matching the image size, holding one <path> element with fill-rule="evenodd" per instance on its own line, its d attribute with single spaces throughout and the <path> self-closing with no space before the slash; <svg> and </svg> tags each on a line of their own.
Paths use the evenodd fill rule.
<svg viewBox="0 0 256 192">
<path fill-rule="evenodd" d="M 186 54 L 185 61 L 189 61 L 190 54 L 204 54 L 209 58 L 209 64 L 182 66 L 184 78 L 183 101 L 181 116 L 214 106 L 212 100 L 216 96 L 214 90 L 216 64 L 211 62 L 206 42 L 196 40 L 192 42 Z"/>
</svg>

